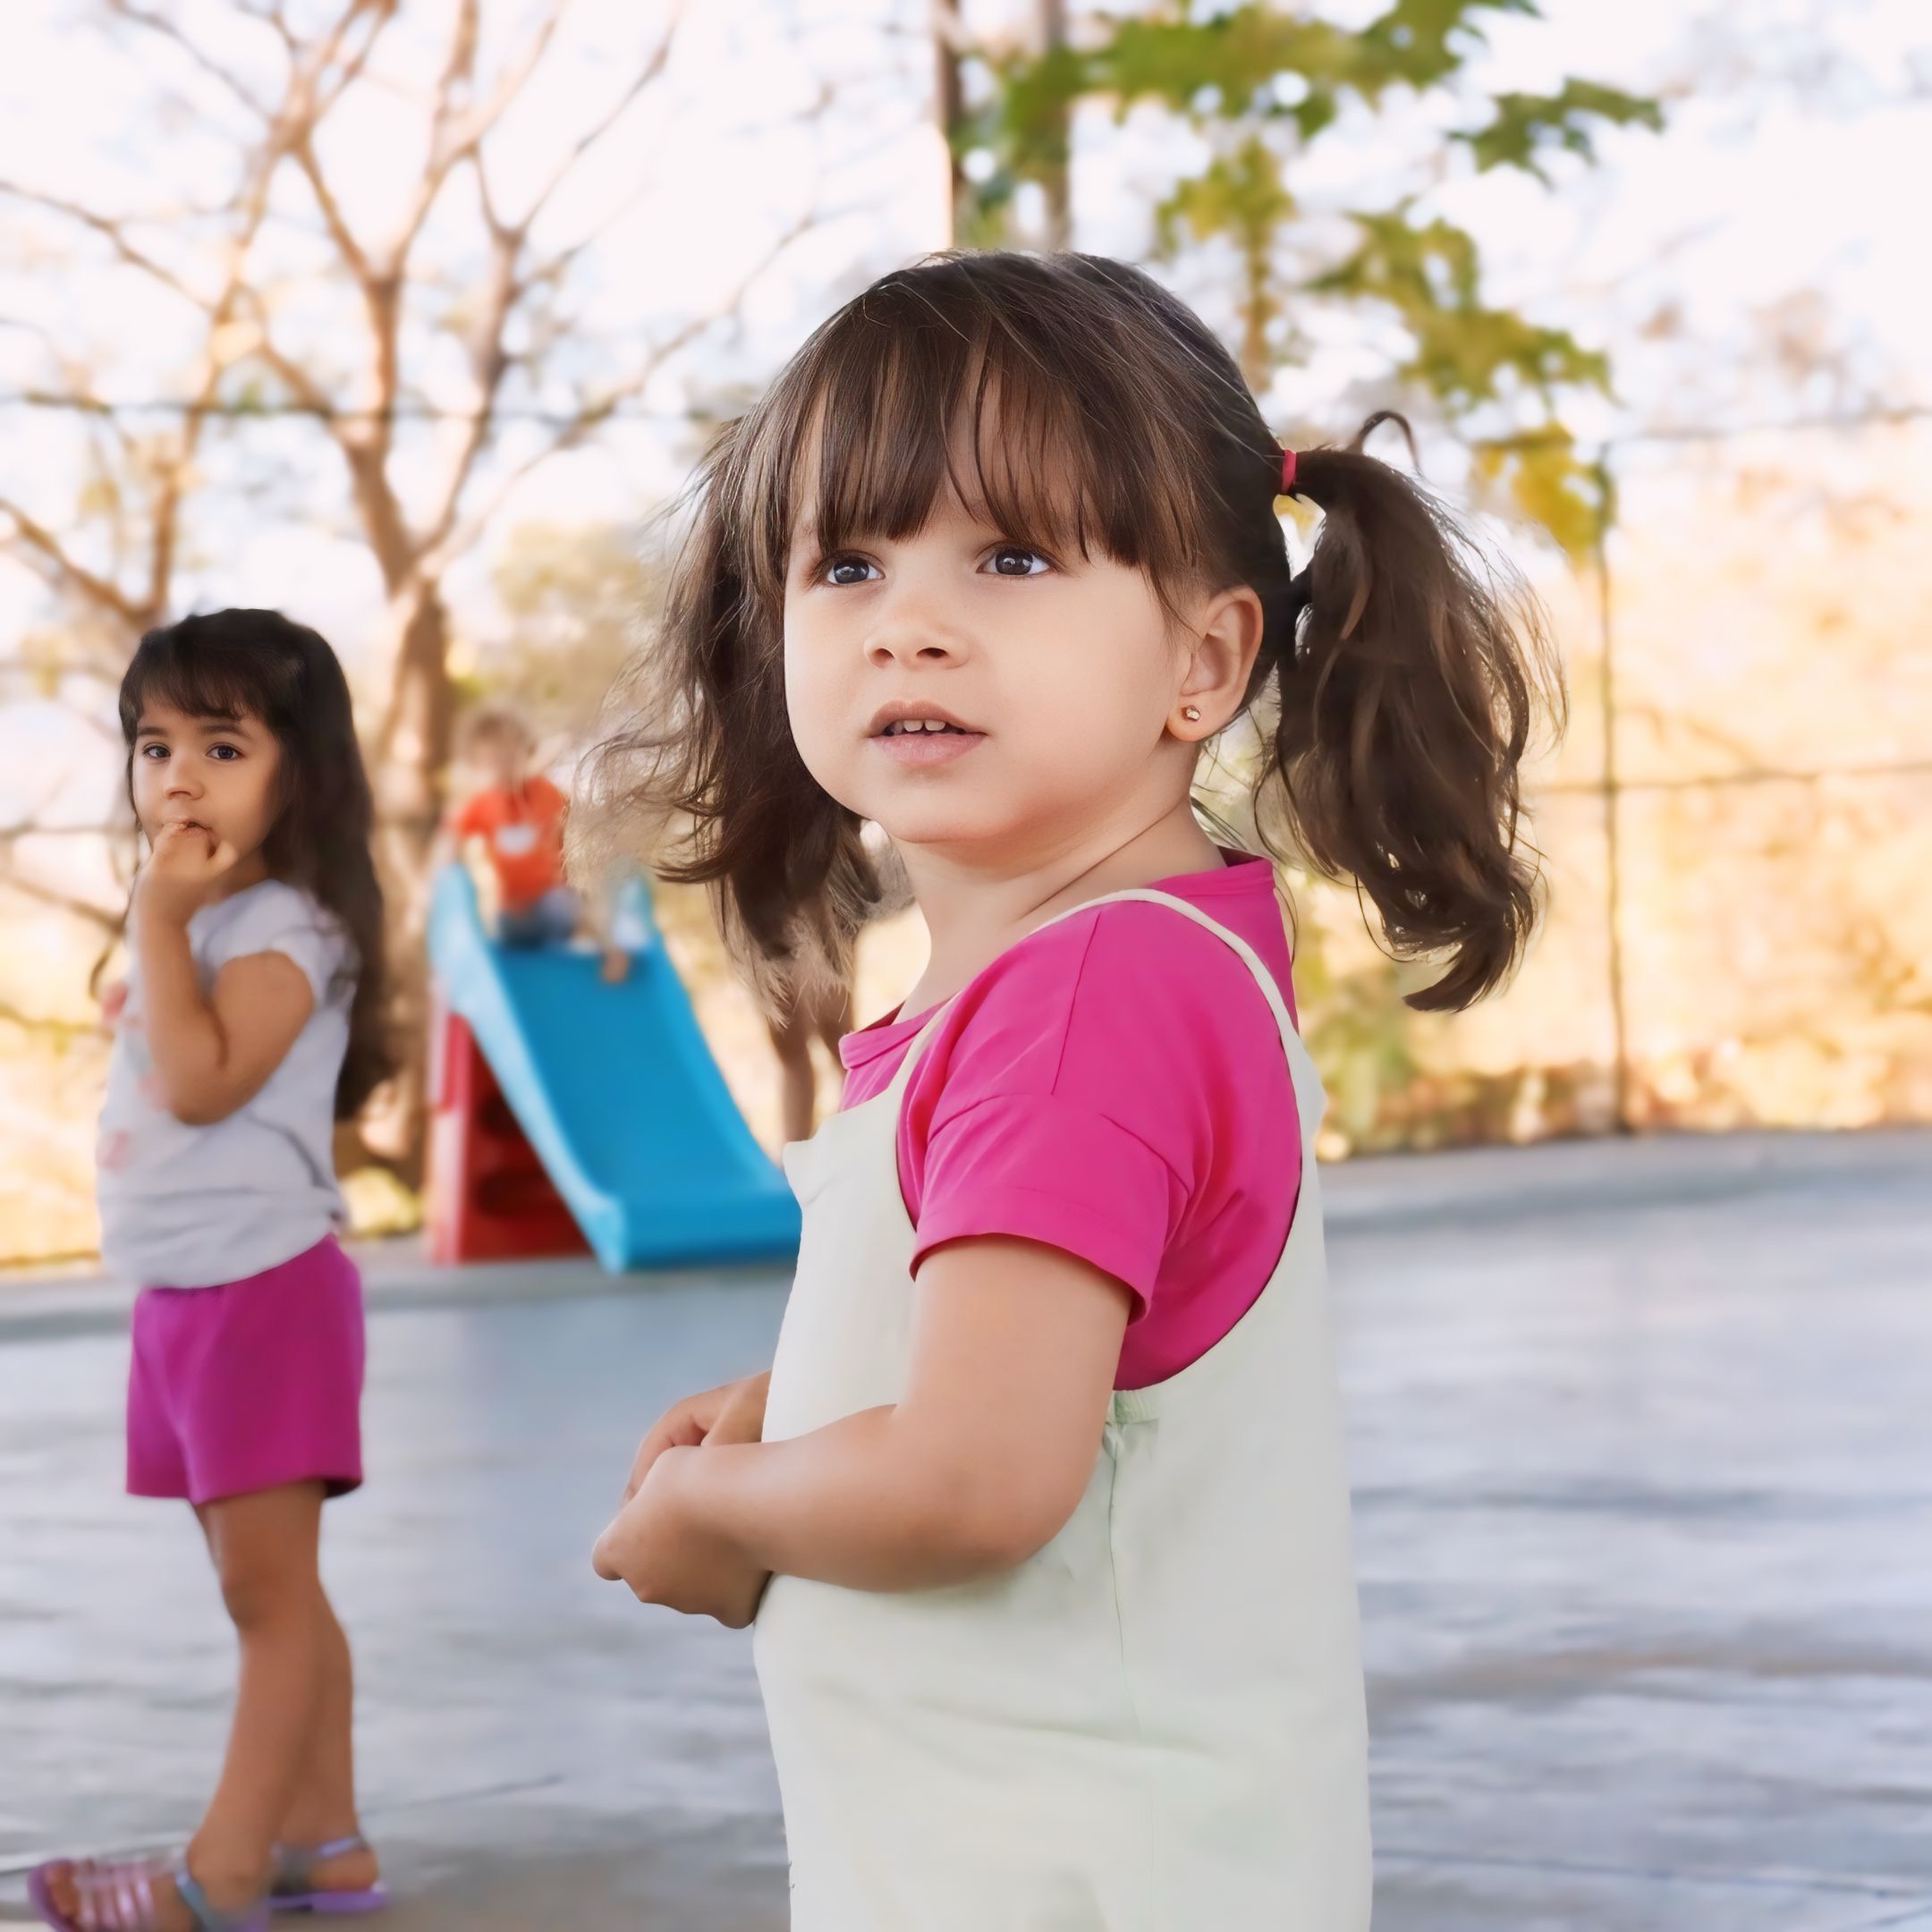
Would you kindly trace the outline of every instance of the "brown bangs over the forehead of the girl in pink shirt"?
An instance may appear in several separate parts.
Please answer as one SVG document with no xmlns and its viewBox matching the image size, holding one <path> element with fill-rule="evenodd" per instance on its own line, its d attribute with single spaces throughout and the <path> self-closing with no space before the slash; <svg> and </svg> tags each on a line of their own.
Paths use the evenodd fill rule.
<svg viewBox="0 0 1932 1932">
<path fill-rule="evenodd" d="M 1163 404 L 1157 323 L 1099 276 L 1041 272 L 999 305 L 956 263 L 916 276 L 827 321 L 744 423 L 734 522 L 767 609 L 800 527 L 821 554 L 898 541 L 947 491 L 1009 541 L 1157 589 L 1196 568 L 1200 431 Z"/>
</svg>

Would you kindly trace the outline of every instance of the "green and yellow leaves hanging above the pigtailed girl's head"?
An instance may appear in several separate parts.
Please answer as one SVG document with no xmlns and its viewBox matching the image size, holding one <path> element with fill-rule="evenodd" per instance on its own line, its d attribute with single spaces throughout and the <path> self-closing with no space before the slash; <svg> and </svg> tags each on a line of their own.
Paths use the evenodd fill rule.
<svg viewBox="0 0 1932 1932">
<path fill-rule="evenodd" d="M 1265 390 L 1294 359 L 1308 301 L 1393 319 L 1410 348 L 1395 379 L 1476 446 L 1478 475 L 1569 551 L 1602 527 L 1596 468 L 1563 427 L 1565 398 L 1607 392 L 1602 352 L 1484 298 L 1474 238 L 1418 191 L 1383 207 L 1308 205 L 1296 193 L 1312 149 L 1352 137 L 1350 106 L 1372 114 L 1395 97 L 1443 97 L 1464 126 L 1451 151 L 1476 172 L 1520 170 L 1553 185 L 1549 164 L 1592 162 L 1605 128 L 1660 128 L 1656 100 L 1569 77 L 1555 93 L 1486 93 L 1472 71 L 1486 15 L 1536 17 L 1534 0 L 1391 0 L 1362 27 L 1310 6 L 1208 8 L 1180 0 L 1095 14 L 1084 31 L 1028 50 L 981 50 L 976 100 L 952 128 L 966 203 L 960 232 L 991 242 L 1014 230 L 1026 184 L 1065 180 L 1076 112 L 1111 108 L 1122 124 L 1151 106 L 1196 137 L 1204 158 L 1153 207 L 1151 245 L 1227 249 L 1238 276 L 1240 359 Z M 968 89 L 972 95 L 974 91 Z M 1325 238 L 1335 216 L 1352 245 Z"/>
</svg>

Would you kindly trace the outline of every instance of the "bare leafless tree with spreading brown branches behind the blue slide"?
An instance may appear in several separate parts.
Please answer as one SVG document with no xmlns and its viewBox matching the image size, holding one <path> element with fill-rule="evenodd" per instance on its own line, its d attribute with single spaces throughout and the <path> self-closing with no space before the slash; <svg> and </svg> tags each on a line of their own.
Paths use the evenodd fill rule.
<svg viewBox="0 0 1932 1932">
<path fill-rule="evenodd" d="M 576 367 L 553 375 L 551 350 L 556 330 L 572 323 L 580 265 L 638 197 L 628 193 L 628 182 L 614 184 L 609 197 L 599 191 L 582 234 L 564 230 L 564 203 L 574 201 L 578 184 L 593 170 L 605 172 L 601 162 L 616 141 L 641 122 L 647 110 L 639 102 L 668 71 L 682 19 L 682 0 L 663 0 L 655 27 L 645 29 L 651 39 L 636 46 L 630 68 L 587 70 L 609 75 L 614 99 L 585 110 L 593 116 L 587 122 L 572 112 L 558 147 L 531 180 L 535 193 L 527 201 L 520 193 L 504 209 L 500 197 L 508 176 L 495 151 L 508 137 L 504 124 L 518 102 L 527 102 L 551 73 L 547 62 L 560 60 L 570 4 L 524 0 L 526 17 L 498 60 L 487 54 L 493 43 L 483 33 L 481 0 L 444 0 L 448 25 L 433 29 L 442 31 L 444 41 L 435 50 L 437 71 L 425 87 L 413 62 L 404 79 L 402 71 L 388 73 L 383 58 L 392 44 L 386 39 L 390 23 L 402 17 L 402 0 L 301 0 L 299 6 L 296 0 L 226 0 L 232 27 L 255 23 L 276 37 L 286 71 L 269 58 L 274 46 L 265 39 L 245 56 L 232 54 L 228 41 L 201 25 L 216 17 L 213 10 L 203 14 L 178 0 L 106 0 L 108 14 L 129 29 L 126 39 L 162 68 L 156 91 L 182 89 L 205 99 L 201 75 L 222 89 L 232 191 L 216 207 L 199 211 L 189 234 L 180 234 L 180 224 L 170 230 L 166 218 L 85 207 L 85 197 L 66 184 L 41 191 L 0 182 L 0 193 L 73 224 L 83 255 L 93 257 L 99 242 L 102 259 L 112 251 L 118 263 L 187 301 L 197 317 L 189 327 L 199 334 L 180 400 L 155 410 L 116 410 L 91 396 L 93 373 L 71 365 L 58 344 L 48 342 L 48 365 L 60 371 L 64 386 L 64 394 L 50 400 L 79 412 L 85 448 L 75 454 L 85 466 L 83 479 L 108 485 L 108 493 L 89 510 L 85 545 L 68 529 L 64 514 L 48 512 L 25 487 L 17 495 L 39 516 L 25 504 L 0 502 L 0 553 L 35 568 L 70 601 L 70 624 L 58 641 L 21 647 L 25 657 L 44 655 L 46 663 L 21 663 L 19 672 L 43 684 L 50 674 L 108 682 L 118 676 L 120 663 L 110 663 L 118 657 L 116 647 L 158 618 L 170 597 L 187 516 L 199 500 L 207 425 L 218 413 L 255 408 L 236 377 L 259 379 L 269 390 L 269 410 L 313 417 L 342 452 L 355 533 L 388 599 L 396 657 L 379 736 L 394 752 L 394 765 L 384 771 L 384 798 L 394 798 L 384 806 L 383 825 L 386 846 L 412 877 L 419 875 L 437 819 L 439 769 L 450 742 L 454 694 L 444 578 L 452 562 L 481 537 L 533 469 L 591 440 L 626 412 L 667 359 L 726 317 L 744 288 L 823 214 L 800 218 L 777 238 L 769 257 L 707 313 L 668 327 L 665 340 L 645 342 L 618 359 L 618 381 L 593 386 Z M 415 14 L 410 17 L 413 21 Z M 263 56 L 259 66 L 257 54 Z M 359 214 L 352 218 L 359 201 L 346 191 L 332 120 L 346 99 L 377 91 L 412 104 L 427 139 L 419 178 L 404 176 L 392 213 L 381 224 Z M 245 116 L 226 112 L 228 100 L 240 102 Z M 346 160 L 354 164 L 355 156 Z M 272 193 L 284 166 L 307 189 L 294 213 Z M 464 168 L 475 182 L 473 203 L 462 195 L 468 184 L 456 184 L 450 193 L 452 178 Z M 313 214 L 305 201 L 313 201 Z M 481 216 L 481 269 L 471 211 Z M 456 230 L 448 253 L 444 230 Z M 280 284 L 270 280 L 274 236 L 299 245 L 298 261 L 313 255 L 309 238 L 319 236 L 323 280 L 354 290 L 350 299 L 357 313 L 346 354 L 340 336 L 317 352 L 305 311 L 284 315 L 280 309 Z M 419 334 L 437 340 L 437 355 L 446 354 L 452 340 L 460 344 L 468 367 L 462 408 L 439 406 L 440 390 L 429 386 L 435 361 L 423 371 L 413 367 Z M 524 365 L 533 371 L 543 408 L 522 408 L 524 398 L 510 404 L 504 396 L 506 379 Z M 500 450 L 495 439 L 512 415 L 531 421 L 531 444 L 520 440 Z M 427 489 L 417 483 L 415 440 L 402 440 L 413 439 L 413 431 L 398 427 L 404 417 L 448 417 L 446 429 L 429 440 L 440 468 L 421 479 Z M 404 450 L 410 464 L 398 460 Z M 14 667 L 0 663 L 0 680 L 15 684 Z M 77 694 L 83 690 L 93 694 L 91 684 L 75 686 Z M 118 746 L 118 730 L 104 711 L 97 707 L 89 724 Z M 118 933 L 120 912 L 62 891 L 68 883 L 62 869 L 15 871 L 15 860 L 33 850 L 21 840 L 66 838 L 52 848 L 66 856 L 77 850 L 75 838 L 99 837 L 102 827 L 41 825 L 37 815 L 23 817 L 19 810 L 10 817 L 19 823 L 0 825 L 0 895 L 14 891 L 87 920 L 104 935 Z M 126 840 L 110 838 L 106 850 L 116 867 L 126 866 Z M 104 891 L 114 887 L 104 885 Z M 404 931 L 412 916 L 404 908 Z M 410 1001 L 421 1003 L 421 983 L 419 970 L 402 954 L 398 985 L 406 989 L 400 1024 L 408 1030 L 417 1024 Z M 410 1105 L 406 1099 L 406 1111 Z"/>
</svg>

